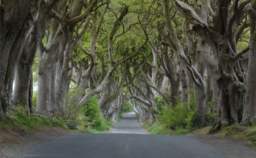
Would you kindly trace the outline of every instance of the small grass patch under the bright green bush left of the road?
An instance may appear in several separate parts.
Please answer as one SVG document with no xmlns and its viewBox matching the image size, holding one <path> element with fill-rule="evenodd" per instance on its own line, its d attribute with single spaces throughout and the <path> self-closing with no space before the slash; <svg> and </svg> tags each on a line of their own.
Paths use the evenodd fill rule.
<svg viewBox="0 0 256 158">
<path fill-rule="evenodd" d="M 102 124 L 97 127 L 88 127 L 84 129 L 85 133 L 102 133 L 102 132 L 107 132 L 113 127 L 110 119 L 108 118 L 103 118 Z"/>
</svg>

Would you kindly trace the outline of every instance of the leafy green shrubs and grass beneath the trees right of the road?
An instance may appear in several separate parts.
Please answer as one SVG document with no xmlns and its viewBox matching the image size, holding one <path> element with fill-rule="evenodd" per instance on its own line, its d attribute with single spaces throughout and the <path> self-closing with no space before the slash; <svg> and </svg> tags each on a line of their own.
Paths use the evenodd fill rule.
<svg viewBox="0 0 256 158">
<path fill-rule="evenodd" d="M 182 104 L 181 100 L 176 97 L 177 105 L 175 107 L 173 107 L 171 103 L 167 104 L 162 97 L 155 96 L 153 98 L 156 108 L 151 108 L 155 118 L 154 123 L 150 125 L 150 127 L 155 127 L 155 129 L 149 128 L 152 133 L 170 134 L 173 133 L 173 131 L 181 131 L 182 129 L 185 131 L 193 131 L 214 123 L 216 110 L 213 109 L 212 103 L 209 102 L 209 112 L 199 115 L 195 113 L 195 96 L 193 89 L 189 90 L 188 93 L 191 96 L 190 102 Z M 166 132 L 164 132 L 164 130 Z"/>
</svg>

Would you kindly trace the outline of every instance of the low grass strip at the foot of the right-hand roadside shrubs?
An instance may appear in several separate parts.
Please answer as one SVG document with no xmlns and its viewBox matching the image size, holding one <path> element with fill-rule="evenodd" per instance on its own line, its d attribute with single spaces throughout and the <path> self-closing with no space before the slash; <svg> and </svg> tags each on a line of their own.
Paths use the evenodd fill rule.
<svg viewBox="0 0 256 158">
<path fill-rule="evenodd" d="M 160 123 L 152 123 L 152 121 L 147 121 L 144 123 L 147 131 L 151 135 L 185 135 L 189 133 L 188 129 L 177 129 L 175 131 L 166 129 Z"/>
</svg>

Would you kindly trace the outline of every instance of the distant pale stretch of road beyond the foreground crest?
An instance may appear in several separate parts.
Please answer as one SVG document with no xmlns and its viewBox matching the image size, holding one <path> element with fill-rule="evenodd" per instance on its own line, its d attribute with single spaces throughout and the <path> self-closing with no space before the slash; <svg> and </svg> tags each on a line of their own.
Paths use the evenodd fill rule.
<svg viewBox="0 0 256 158">
<path fill-rule="evenodd" d="M 142 128 L 143 123 L 137 121 L 135 112 L 124 113 L 122 122 L 114 122 L 114 128 L 111 129 L 111 133 L 136 133 L 147 134 L 147 131 Z"/>
</svg>

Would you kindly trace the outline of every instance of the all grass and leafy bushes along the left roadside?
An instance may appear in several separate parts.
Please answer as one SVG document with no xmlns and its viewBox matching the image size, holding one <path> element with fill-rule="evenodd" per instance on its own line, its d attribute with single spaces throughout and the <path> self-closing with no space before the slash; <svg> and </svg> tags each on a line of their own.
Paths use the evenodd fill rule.
<svg viewBox="0 0 256 158">
<path fill-rule="evenodd" d="M 79 104 L 79 90 L 72 90 L 67 94 L 65 115 L 52 117 L 27 117 L 25 106 L 16 105 L 16 110 L 10 110 L 10 117 L 1 117 L 0 129 L 20 129 L 21 131 L 35 130 L 37 127 L 60 127 L 68 130 L 83 131 L 85 133 L 106 132 L 112 127 L 111 121 L 103 117 L 98 105 L 97 96 L 93 96 L 82 105 Z M 35 93 L 36 96 L 36 93 Z M 33 97 L 35 98 L 35 97 Z"/>
</svg>

